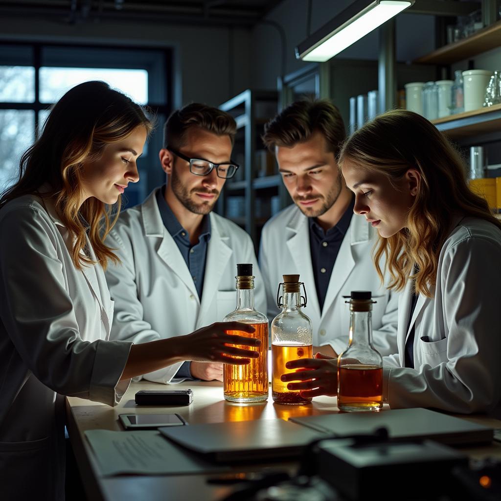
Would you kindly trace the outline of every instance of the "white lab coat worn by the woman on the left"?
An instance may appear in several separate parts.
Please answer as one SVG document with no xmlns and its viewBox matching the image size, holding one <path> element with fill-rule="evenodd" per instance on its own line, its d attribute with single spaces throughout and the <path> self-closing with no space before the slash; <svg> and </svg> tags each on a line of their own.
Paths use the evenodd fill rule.
<svg viewBox="0 0 501 501">
<path fill-rule="evenodd" d="M 49 200 L 26 195 L 0 210 L 3 499 L 63 499 L 63 395 L 115 405 L 129 384 L 119 379 L 130 343 L 105 341 L 113 303 L 103 271 L 77 270 L 68 239 Z"/>
</svg>

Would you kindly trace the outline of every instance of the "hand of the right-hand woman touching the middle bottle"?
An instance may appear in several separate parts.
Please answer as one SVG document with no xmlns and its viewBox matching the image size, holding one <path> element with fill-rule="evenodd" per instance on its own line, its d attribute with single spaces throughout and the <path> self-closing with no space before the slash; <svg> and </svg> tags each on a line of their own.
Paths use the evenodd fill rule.
<svg viewBox="0 0 501 501">
<path fill-rule="evenodd" d="M 336 396 L 338 394 L 338 359 L 316 353 L 315 358 L 300 358 L 287 362 L 288 369 L 296 372 L 283 374 L 281 380 L 299 381 L 289 383 L 289 390 L 300 390 L 303 398 L 318 397 L 319 395 Z"/>
</svg>

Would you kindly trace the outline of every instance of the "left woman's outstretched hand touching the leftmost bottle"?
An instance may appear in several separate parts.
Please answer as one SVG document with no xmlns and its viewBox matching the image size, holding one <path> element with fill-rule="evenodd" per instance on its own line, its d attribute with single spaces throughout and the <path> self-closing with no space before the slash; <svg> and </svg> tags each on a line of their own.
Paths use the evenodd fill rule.
<svg viewBox="0 0 501 501">
<path fill-rule="evenodd" d="M 245 365 L 250 363 L 250 359 L 259 357 L 256 349 L 261 345 L 261 341 L 244 335 L 227 334 L 226 331 L 252 334 L 255 330 L 251 325 L 240 322 L 216 322 L 177 339 L 182 343 L 181 350 L 185 360 Z M 249 349 L 237 348 L 234 345 L 248 346 Z"/>
</svg>

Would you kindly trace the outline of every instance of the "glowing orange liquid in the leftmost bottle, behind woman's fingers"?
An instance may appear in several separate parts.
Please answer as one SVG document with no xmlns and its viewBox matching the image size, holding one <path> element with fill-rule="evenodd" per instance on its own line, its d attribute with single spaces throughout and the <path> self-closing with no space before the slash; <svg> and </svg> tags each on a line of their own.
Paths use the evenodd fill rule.
<svg viewBox="0 0 501 501">
<path fill-rule="evenodd" d="M 252 334 L 227 331 L 228 334 L 258 338 L 261 346 L 238 346 L 258 351 L 258 358 L 251 358 L 247 365 L 223 364 L 224 398 L 230 402 L 262 402 L 268 399 L 268 323 L 249 324 L 256 331 Z"/>
</svg>

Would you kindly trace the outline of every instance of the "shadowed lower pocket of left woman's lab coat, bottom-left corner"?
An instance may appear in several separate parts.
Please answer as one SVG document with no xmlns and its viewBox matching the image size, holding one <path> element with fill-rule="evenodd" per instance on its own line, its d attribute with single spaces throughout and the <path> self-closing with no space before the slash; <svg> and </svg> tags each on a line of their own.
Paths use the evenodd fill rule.
<svg viewBox="0 0 501 501">
<path fill-rule="evenodd" d="M 50 438 L 28 442 L 0 442 L 3 499 L 53 499 L 54 471 Z M 50 495 L 50 497 L 46 497 Z"/>
</svg>

